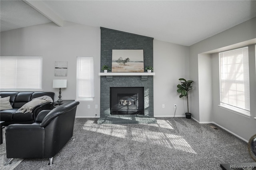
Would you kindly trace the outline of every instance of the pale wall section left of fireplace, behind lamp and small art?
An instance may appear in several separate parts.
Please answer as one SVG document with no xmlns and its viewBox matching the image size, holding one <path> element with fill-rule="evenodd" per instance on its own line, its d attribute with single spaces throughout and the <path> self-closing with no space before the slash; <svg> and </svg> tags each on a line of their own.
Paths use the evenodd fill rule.
<svg viewBox="0 0 256 170">
<path fill-rule="evenodd" d="M 95 98 L 80 102 L 77 117 L 100 115 L 100 28 L 65 22 L 64 27 L 54 23 L 1 32 L 2 56 L 43 56 L 43 91 L 53 91 L 55 101 L 58 89 L 52 88 L 53 79 L 67 79 L 62 99 L 76 99 L 76 57 L 94 57 Z M 68 61 L 68 76 L 54 76 L 55 61 Z M 91 109 L 87 109 L 90 104 Z M 95 108 L 95 104 L 99 107 Z"/>
</svg>

